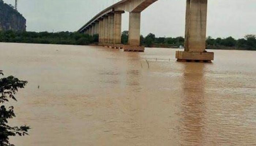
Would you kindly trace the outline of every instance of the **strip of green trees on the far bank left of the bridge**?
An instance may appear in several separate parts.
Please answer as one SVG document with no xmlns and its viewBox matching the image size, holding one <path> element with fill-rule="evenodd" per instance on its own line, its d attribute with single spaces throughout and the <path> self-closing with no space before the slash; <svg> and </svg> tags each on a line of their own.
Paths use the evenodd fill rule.
<svg viewBox="0 0 256 146">
<path fill-rule="evenodd" d="M 79 32 L 25 32 L 0 31 L 0 42 L 43 43 L 64 45 L 88 45 L 98 42 L 98 35 L 90 36 Z"/>
</svg>

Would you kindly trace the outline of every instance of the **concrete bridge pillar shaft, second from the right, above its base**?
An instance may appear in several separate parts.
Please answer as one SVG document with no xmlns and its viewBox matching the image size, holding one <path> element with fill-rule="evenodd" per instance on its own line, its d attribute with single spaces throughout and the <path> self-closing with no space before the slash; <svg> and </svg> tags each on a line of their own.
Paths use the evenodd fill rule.
<svg viewBox="0 0 256 146">
<path fill-rule="evenodd" d="M 131 46 L 140 45 L 140 12 L 130 12 L 128 43 Z"/>
</svg>

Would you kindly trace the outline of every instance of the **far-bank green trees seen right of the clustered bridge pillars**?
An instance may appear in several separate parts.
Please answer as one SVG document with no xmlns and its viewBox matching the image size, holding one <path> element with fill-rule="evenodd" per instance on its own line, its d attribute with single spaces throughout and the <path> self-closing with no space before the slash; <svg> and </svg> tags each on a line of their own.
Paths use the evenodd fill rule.
<svg viewBox="0 0 256 146">
<path fill-rule="evenodd" d="M 122 43 L 128 43 L 128 31 L 122 32 Z M 155 37 L 150 33 L 146 37 L 140 36 L 140 45 L 146 47 L 167 47 L 178 48 L 184 47 L 185 39 L 183 37 Z M 227 38 L 206 38 L 207 49 L 227 49 L 227 50 L 256 50 L 256 36 L 246 35 L 241 39 Z"/>
</svg>

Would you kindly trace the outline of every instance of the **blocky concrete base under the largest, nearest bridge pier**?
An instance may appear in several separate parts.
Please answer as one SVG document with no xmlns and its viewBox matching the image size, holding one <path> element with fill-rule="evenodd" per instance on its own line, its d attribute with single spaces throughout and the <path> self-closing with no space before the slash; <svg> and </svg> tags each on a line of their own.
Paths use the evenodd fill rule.
<svg viewBox="0 0 256 146">
<path fill-rule="evenodd" d="M 180 62 L 211 62 L 214 60 L 214 53 L 176 51 L 176 58 Z"/>
</svg>

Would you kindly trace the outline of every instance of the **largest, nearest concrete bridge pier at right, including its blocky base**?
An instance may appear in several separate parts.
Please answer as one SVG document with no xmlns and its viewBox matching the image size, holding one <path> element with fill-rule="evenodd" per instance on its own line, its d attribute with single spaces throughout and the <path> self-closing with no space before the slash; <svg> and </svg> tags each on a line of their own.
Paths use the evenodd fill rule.
<svg viewBox="0 0 256 146">
<path fill-rule="evenodd" d="M 177 61 L 211 62 L 206 49 L 207 0 L 187 0 L 185 51 L 176 51 Z"/>
</svg>

